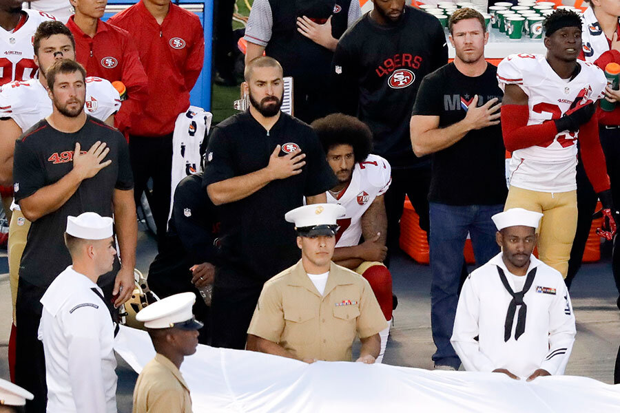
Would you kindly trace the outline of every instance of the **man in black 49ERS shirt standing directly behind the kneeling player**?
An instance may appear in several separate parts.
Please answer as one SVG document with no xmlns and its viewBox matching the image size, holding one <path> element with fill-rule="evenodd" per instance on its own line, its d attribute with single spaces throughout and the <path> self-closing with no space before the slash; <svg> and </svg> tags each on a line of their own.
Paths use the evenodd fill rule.
<svg viewBox="0 0 620 413">
<path fill-rule="evenodd" d="M 448 47 L 440 22 L 431 14 L 405 6 L 405 0 L 373 3 L 374 9 L 338 41 L 332 74 L 340 112 L 369 125 L 375 153 L 392 166 L 385 195 L 389 253 L 398 248 L 405 194 L 428 231 L 430 161 L 411 150 L 409 120 L 422 78 L 448 63 Z"/>
</svg>

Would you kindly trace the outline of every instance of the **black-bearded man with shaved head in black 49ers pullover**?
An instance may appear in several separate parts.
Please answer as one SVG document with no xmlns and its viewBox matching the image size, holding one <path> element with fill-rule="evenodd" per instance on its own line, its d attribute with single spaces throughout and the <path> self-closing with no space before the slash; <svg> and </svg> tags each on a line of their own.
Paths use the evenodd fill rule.
<svg viewBox="0 0 620 413">
<path fill-rule="evenodd" d="M 245 67 L 247 112 L 211 131 L 203 187 L 220 206 L 211 345 L 245 348 L 262 284 L 300 260 L 287 211 L 327 202 L 338 183 L 314 131 L 280 112 L 282 67 L 258 57 Z"/>
</svg>

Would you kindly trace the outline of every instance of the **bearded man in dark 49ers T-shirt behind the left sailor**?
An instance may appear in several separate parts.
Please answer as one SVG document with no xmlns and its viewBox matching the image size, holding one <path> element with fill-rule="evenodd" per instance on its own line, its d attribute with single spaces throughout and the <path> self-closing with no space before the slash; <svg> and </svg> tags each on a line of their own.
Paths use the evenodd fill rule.
<svg viewBox="0 0 620 413">
<path fill-rule="evenodd" d="M 120 306 L 134 290 L 137 222 L 127 142 L 116 129 L 87 116 L 85 70 L 75 61 L 48 69 L 53 112 L 25 131 L 15 144 L 15 202 L 32 221 L 19 267 L 17 287 L 16 381 L 34 394 L 28 412 L 44 412 L 43 346 L 37 339 L 39 300 L 56 275 L 71 265 L 63 240 L 69 215 L 91 211 L 114 215 L 122 266 L 98 284 L 107 300 Z"/>
</svg>

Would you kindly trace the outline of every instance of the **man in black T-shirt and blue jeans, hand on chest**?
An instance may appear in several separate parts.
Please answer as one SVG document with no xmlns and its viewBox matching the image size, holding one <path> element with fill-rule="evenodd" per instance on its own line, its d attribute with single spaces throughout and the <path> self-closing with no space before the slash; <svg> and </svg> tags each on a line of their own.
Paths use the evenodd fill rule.
<svg viewBox="0 0 620 413">
<path fill-rule="evenodd" d="M 497 68 L 484 60 L 488 32 L 479 12 L 457 10 L 449 21 L 453 63 L 422 81 L 411 118 L 411 143 L 419 156 L 432 153 L 428 194 L 431 216 L 431 327 L 435 368 L 457 370 L 450 338 L 471 235 L 476 262 L 499 253 L 491 215 L 502 212 L 506 188 L 505 151 L 499 127 Z"/>
</svg>

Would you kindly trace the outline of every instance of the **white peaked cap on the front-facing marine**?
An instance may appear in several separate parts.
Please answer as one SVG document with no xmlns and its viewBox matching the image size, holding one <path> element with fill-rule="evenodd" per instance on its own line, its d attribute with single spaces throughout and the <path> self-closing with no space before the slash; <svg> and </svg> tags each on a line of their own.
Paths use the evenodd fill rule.
<svg viewBox="0 0 620 413">
<path fill-rule="evenodd" d="M 336 220 L 347 210 L 338 204 L 304 205 L 285 214 L 285 220 L 295 223 L 297 233 L 302 237 L 335 235 Z"/>
</svg>

